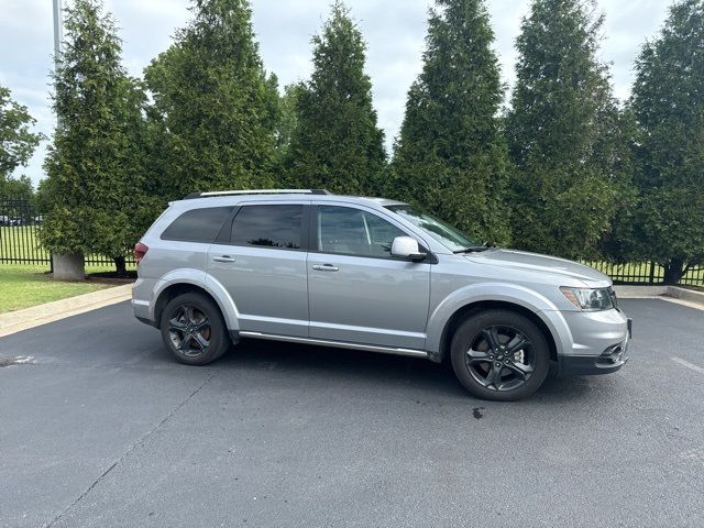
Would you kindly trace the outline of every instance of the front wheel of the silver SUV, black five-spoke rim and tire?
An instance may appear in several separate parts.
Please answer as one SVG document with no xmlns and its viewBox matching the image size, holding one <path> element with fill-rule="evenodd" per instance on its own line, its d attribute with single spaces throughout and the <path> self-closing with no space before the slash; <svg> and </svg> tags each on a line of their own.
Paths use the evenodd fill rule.
<svg viewBox="0 0 704 528">
<path fill-rule="evenodd" d="M 450 355 L 464 388 L 497 402 L 530 396 L 550 370 L 546 336 L 530 319 L 510 310 L 470 316 L 454 332 Z"/>
</svg>

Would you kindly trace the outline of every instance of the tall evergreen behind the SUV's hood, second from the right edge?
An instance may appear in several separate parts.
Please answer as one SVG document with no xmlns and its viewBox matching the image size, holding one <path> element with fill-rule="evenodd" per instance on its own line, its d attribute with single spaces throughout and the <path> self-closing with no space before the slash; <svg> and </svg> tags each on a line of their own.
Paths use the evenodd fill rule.
<svg viewBox="0 0 704 528">
<path fill-rule="evenodd" d="M 517 84 L 507 120 L 517 169 L 513 232 L 518 246 L 593 255 L 615 211 L 618 110 L 597 58 L 602 16 L 593 0 L 534 0 L 517 41 Z"/>
</svg>

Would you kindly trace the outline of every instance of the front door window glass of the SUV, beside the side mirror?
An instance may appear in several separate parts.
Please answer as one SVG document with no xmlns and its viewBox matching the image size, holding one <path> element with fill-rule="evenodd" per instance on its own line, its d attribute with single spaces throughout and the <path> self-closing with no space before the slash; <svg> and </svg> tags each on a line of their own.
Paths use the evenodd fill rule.
<svg viewBox="0 0 704 528">
<path fill-rule="evenodd" d="M 400 229 L 386 220 L 349 207 L 318 207 L 318 251 L 358 256 L 389 256 Z"/>
</svg>

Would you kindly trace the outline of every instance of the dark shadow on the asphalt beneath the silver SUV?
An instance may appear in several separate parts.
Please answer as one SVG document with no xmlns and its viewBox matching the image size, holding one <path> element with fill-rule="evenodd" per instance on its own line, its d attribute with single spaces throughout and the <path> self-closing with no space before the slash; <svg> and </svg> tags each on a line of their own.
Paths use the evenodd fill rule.
<svg viewBox="0 0 704 528">
<path fill-rule="evenodd" d="M 283 342 L 242 340 L 221 360 L 212 364 L 221 375 L 262 376 L 282 374 L 290 383 L 316 378 L 331 384 L 359 386 L 360 391 L 383 387 L 400 393 L 436 394 L 444 398 L 480 402 L 469 395 L 457 381 L 448 363 L 380 354 L 356 350 L 310 346 Z M 527 400 L 559 404 L 582 398 L 591 391 L 587 377 L 557 377 L 551 373 L 542 387 Z M 315 385 L 308 384 L 308 391 Z"/>
</svg>

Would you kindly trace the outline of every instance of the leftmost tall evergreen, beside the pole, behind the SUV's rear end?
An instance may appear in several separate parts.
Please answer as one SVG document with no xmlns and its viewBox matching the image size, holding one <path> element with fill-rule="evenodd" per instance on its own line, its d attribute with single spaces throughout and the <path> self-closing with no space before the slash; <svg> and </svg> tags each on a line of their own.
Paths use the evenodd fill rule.
<svg viewBox="0 0 704 528">
<path fill-rule="evenodd" d="M 41 185 L 47 218 L 41 240 L 56 253 L 124 255 L 143 226 L 143 92 L 121 65 L 121 44 L 99 0 L 66 10 L 66 42 L 54 73 L 59 127 Z"/>
</svg>

